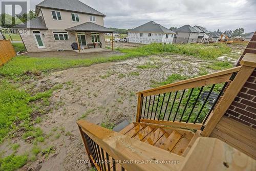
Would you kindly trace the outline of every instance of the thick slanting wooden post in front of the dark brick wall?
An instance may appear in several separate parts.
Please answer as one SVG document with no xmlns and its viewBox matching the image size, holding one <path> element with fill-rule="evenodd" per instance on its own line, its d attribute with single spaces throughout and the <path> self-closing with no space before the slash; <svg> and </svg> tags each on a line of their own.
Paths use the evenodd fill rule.
<svg viewBox="0 0 256 171">
<path fill-rule="evenodd" d="M 219 103 L 216 105 L 215 110 L 211 112 L 201 136 L 210 136 L 211 132 L 215 129 L 218 122 L 228 110 L 234 98 L 236 98 L 243 88 L 245 82 L 256 68 L 256 54 L 246 53 L 240 64 L 242 66 L 241 69 L 238 71 L 234 80 L 229 84 Z"/>
</svg>

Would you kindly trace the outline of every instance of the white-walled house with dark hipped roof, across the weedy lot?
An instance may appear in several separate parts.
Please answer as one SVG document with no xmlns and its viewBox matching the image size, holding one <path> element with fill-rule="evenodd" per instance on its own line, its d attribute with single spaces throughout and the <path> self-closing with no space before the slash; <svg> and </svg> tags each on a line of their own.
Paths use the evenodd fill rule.
<svg viewBox="0 0 256 171">
<path fill-rule="evenodd" d="M 158 42 L 172 44 L 175 33 L 153 21 L 129 30 L 128 42 L 151 44 Z"/>
</svg>

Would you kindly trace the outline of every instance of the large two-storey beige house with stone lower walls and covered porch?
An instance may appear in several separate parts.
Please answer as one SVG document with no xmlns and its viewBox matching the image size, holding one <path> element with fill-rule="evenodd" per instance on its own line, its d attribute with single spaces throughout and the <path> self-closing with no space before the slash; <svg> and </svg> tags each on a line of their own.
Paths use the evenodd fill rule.
<svg viewBox="0 0 256 171">
<path fill-rule="evenodd" d="M 36 18 L 13 27 L 27 29 L 21 37 L 28 52 L 72 50 L 74 42 L 80 49 L 104 48 L 105 33 L 115 32 L 104 27 L 104 14 L 78 0 L 45 0 L 35 12 Z"/>
</svg>

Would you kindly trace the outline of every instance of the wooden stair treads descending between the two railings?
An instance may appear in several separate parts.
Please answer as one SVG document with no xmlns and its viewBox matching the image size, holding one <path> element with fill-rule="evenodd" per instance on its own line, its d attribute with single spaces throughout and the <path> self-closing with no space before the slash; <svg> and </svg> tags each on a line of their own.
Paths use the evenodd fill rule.
<svg viewBox="0 0 256 171">
<path fill-rule="evenodd" d="M 195 136 L 191 131 L 131 123 L 119 133 L 182 156 Z"/>
</svg>

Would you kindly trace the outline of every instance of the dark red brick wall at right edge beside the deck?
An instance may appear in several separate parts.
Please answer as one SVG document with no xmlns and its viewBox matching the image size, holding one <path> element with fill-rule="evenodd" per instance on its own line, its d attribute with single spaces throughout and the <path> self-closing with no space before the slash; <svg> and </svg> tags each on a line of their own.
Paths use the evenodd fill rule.
<svg viewBox="0 0 256 171">
<path fill-rule="evenodd" d="M 256 32 L 239 59 L 237 66 L 246 53 L 256 54 Z M 248 78 L 243 88 L 234 99 L 225 116 L 256 129 L 256 70 Z"/>
</svg>

